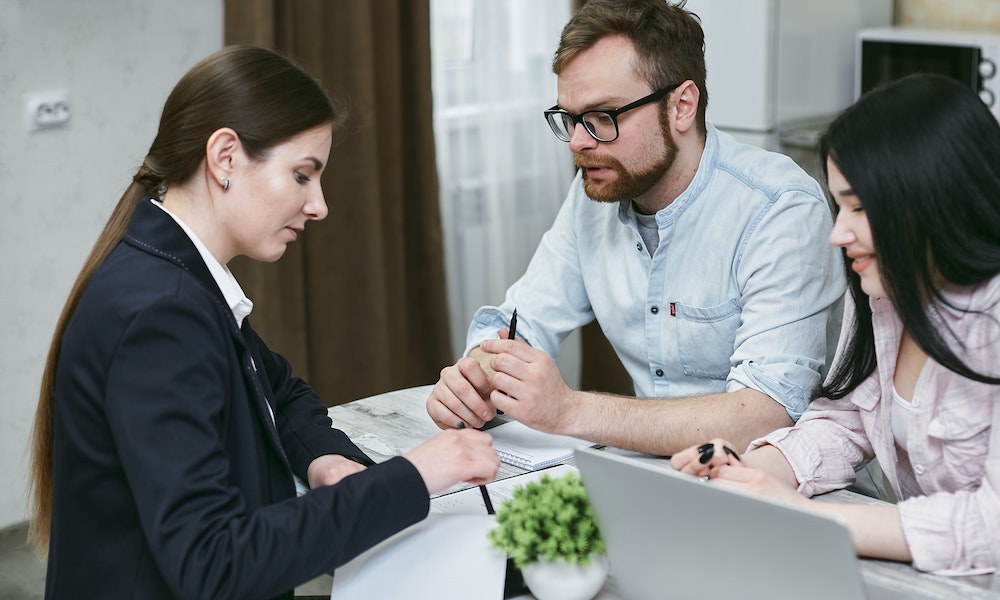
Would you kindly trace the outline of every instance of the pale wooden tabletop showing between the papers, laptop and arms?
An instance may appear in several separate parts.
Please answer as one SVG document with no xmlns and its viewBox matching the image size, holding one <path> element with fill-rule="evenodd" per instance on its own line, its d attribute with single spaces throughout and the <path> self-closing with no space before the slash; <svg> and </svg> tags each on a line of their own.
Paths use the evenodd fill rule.
<svg viewBox="0 0 1000 600">
<path fill-rule="evenodd" d="M 430 391 L 429 385 L 396 390 L 333 406 L 328 412 L 334 427 L 347 433 L 372 460 L 381 462 L 408 452 L 440 431 L 427 414 L 425 403 Z M 497 478 L 523 472 L 523 469 L 501 463 Z M 471 486 L 456 486 L 445 493 L 464 487 Z M 820 499 L 832 502 L 881 502 L 846 490 L 825 494 Z M 867 558 L 861 560 L 861 569 L 865 579 L 902 591 L 956 600 L 1000 599 L 1000 574 L 940 577 L 922 573 L 907 564 Z M 621 599 L 615 586 L 614 573 L 598 598 Z"/>
</svg>

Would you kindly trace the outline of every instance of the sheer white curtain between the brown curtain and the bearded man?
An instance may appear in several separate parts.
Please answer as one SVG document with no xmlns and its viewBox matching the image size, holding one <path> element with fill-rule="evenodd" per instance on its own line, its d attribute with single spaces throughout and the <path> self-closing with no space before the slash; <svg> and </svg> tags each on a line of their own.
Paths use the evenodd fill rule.
<svg viewBox="0 0 1000 600">
<path fill-rule="evenodd" d="M 555 104 L 552 55 L 569 16 L 570 0 L 431 0 L 434 136 L 456 354 L 475 310 L 499 304 L 524 272 L 573 177 L 567 145 L 542 116 Z M 575 337 L 559 363 L 574 385 Z"/>
</svg>

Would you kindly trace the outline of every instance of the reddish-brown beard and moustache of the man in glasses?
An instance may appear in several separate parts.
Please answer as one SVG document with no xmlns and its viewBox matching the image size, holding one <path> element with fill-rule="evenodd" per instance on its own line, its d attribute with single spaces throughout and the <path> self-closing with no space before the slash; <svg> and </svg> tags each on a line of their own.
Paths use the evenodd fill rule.
<svg viewBox="0 0 1000 600">
<path fill-rule="evenodd" d="M 629 171 L 616 158 L 595 158 L 587 154 L 574 153 L 573 164 L 577 168 L 603 167 L 615 173 L 611 181 L 598 182 L 587 176 L 583 171 L 583 191 L 591 200 L 598 202 L 619 202 L 632 200 L 642 196 L 653 188 L 670 170 L 677 159 L 677 142 L 670 135 L 666 116 L 660 118 L 660 131 L 663 135 L 663 156 L 651 166 L 641 171 Z"/>
</svg>

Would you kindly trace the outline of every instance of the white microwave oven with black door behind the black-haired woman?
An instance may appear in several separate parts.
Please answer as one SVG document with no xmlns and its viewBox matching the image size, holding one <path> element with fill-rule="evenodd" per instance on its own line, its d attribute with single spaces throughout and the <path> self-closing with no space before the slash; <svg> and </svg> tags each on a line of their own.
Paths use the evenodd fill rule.
<svg viewBox="0 0 1000 600">
<path fill-rule="evenodd" d="M 979 94 L 1000 120 L 1000 35 L 912 27 L 861 29 L 857 35 L 855 98 L 911 73 L 952 77 Z"/>
</svg>

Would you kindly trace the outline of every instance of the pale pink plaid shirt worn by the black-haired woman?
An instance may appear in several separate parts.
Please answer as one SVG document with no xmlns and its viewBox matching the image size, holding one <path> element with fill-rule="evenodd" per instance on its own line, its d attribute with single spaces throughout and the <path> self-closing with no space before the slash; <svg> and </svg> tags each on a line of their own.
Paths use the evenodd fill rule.
<svg viewBox="0 0 1000 600">
<path fill-rule="evenodd" d="M 1000 277 L 945 297 L 970 313 L 939 306 L 940 321 L 980 373 L 1000 373 Z M 885 298 L 871 300 L 878 367 L 841 400 L 820 398 L 794 427 L 756 440 L 789 461 L 806 496 L 844 488 L 876 457 L 898 503 L 913 566 L 941 575 L 990 573 L 1000 564 L 1000 386 L 961 377 L 928 359 L 914 391 L 909 453 L 892 434 L 892 378 L 902 324 Z M 844 332 L 854 303 L 845 302 Z M 843 351 L 841 335 L 839 357 Z"/>
</svg>

